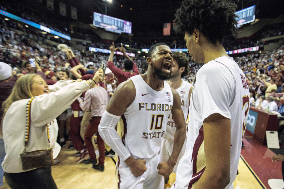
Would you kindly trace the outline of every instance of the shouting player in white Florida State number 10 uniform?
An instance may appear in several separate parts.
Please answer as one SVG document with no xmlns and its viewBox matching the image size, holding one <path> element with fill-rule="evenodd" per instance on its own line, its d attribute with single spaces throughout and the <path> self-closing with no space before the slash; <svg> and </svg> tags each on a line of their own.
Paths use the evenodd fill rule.
<svg viewBox="0 0 284 189">
<path fill-rule="evenodd" d="M 101 118 L 99 134 L 118 154 L 118 188 L 164 188 L 163 176 L 168 177 L 177 162 L 186 125 L 178 93 L 164 82 L 170 78 L 172 61 L 168 45 L 153 45 L 147 72 L 120 84 Z M 174 150 L 161 162 L 159 152 L 170 113 L 176 124 Z M 120 117 L 122 139 L 114 129 Z"/>
</svg>

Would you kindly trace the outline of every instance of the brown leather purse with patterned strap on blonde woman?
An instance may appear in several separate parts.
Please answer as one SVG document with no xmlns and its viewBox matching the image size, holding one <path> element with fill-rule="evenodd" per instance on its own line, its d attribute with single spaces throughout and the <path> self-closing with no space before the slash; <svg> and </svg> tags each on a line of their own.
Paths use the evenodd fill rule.
<svg viewBox="0 0 284 189">
<path fill-rule="evenodd" d="M 35 150 L 27 152 L 26 148 L 28 146 L 29 135 L 30 135 L 30 105 L 35 97 L 32 97 L 26 106 L 26 133 L 25 133 L 25 149 L 21 156 L 22 160 L 22 169 L 30 170 L 39 167 L 50 167 L 54 164 L 53 156 L 52 156 L 52 147 L 49 142 L 49 125 L 46 124 L 47 127 L 47 140 L 48 140 L 48 149 L 46 150 Z"/>
</svg>

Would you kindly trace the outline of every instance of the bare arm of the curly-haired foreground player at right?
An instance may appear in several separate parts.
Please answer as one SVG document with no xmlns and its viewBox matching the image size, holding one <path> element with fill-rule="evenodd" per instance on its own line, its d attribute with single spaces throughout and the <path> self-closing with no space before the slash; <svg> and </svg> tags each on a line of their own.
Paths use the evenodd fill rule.
<svg viewBox="0 0 284 189">
<path fill-rule="evenodd" d="M 230 119 L 214 113 L 203 122 L 206 168 L 195 189 L 225 188 L 230 183 Z"/>
</svg>

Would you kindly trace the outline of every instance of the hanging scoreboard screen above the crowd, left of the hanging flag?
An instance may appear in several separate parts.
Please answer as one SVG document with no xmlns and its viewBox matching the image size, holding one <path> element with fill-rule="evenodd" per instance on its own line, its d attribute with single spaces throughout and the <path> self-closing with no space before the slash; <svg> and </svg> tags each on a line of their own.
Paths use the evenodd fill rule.
<svg viewBox="0 0 284 189">
<path fill-rule="evenodd" d="M 107 16 L 94 12 L 93 25 L 96 27 L 105 28 L 106 31 L 115 33 L 129 33 L 131 34 L 132 23 L 119 18 Z"/>
</svg>

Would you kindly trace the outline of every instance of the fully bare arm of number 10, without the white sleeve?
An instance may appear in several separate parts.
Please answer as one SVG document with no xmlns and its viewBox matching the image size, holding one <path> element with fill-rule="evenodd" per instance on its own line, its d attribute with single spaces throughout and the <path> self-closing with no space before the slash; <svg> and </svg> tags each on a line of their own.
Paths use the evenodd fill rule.
<svg viewBox="0 0 284 189">
<path fill-rule="evenodd" d="M 180 151 L 183 147 L 183 143 L 185 140 L 185 133 L 186 133 L 186 125 L 183 116 L 183 110 L 181 109 L 180 96 L 178 95 L 178 92 L 176 92 L 176 90 L 173 88 L 172 88 L 172 94 L 174 102 L 172 105 L 171 113 L 176 126 L 176 131 L 174 136 L 174 146 L 172 154 L 168 159 L 168 161 L 159 163 L 157 167 L 157 169 L 159 169 L 158 173 L 165 177 L 168 177 L 171 174 L 175 164 L 177 163 L 178 155 L 180 154 Z"/>
</svg>

